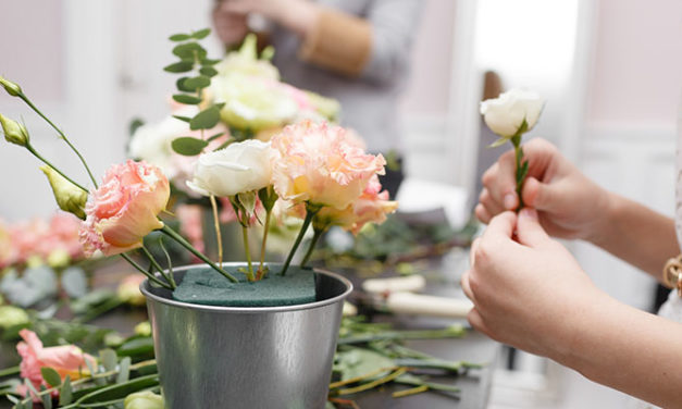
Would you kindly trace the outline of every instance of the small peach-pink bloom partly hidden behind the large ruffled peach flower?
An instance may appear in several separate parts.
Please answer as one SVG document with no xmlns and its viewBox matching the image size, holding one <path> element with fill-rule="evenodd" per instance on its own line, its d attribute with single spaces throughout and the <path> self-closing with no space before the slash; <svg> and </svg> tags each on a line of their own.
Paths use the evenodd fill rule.
<svg viewBox="0 0 682 409">
<path fill-rule="evenodd" d="M 367 223 L 383 223 L 386 214 L 396 211 L 398 202 L 388 200 L 388 191 L 381 189 L 379 177 L 374 175 L 357 200 L 343 210 L 322 208 L 315 214 L 313 225 L 317 228 L 340 226 L 357 235 Z"/>
</svg>

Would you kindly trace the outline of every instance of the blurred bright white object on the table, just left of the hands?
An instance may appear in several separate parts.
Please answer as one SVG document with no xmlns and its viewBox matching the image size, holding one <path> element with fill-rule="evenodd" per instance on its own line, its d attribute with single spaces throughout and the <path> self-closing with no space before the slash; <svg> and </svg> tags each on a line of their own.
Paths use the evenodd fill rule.
<svg viewBox="0 0 682 409">
<path fill-rule="evenodd" d="M 469 220 L 467 198 L 463 187 L 408 177 L 398 190 L 398 211 L 410 215 L 443 211 L 452 228 L 461 228 Z"/>
</svg>

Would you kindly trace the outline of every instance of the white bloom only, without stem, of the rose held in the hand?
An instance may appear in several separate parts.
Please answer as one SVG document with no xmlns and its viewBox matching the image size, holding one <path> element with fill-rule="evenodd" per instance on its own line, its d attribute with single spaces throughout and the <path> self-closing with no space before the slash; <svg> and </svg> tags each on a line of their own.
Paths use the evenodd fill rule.
<svg viewBox="0 0 682 409">
<path fill-rule="evenodd" d="M 481 102 L 481 114 L 491 131 L 508 139 L 519 132 L 523 120 L 528 124 L 526 131 L 531 131 L 537 123 L 544 103 L 537 92 L 511 89 Z"/>
</svg>

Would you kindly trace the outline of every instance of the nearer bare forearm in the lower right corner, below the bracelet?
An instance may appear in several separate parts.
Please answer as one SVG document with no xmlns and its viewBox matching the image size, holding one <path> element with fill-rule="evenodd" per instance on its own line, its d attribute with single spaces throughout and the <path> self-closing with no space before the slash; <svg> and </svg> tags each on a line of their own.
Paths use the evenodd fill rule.
<svg viewBox="0 0 682 409">
<path fill-rule="evenodd" d="M 585 307 L 590 311 L 574 311 L 568 319 L 566 326 L 573 336 L 558 337 L 563 350 L 550 358 L 646 401 L 665 408 L 682 407 L 682 324 L 606 295 Z"/>
</svg>

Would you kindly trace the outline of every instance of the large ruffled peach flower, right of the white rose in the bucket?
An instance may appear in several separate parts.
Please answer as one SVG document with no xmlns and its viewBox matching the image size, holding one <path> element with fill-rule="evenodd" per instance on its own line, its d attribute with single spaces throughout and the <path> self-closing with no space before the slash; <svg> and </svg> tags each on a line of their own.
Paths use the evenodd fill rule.
<svg viewBox="0 0 682 409">
<path fill-rule="evenodd" d="M 303 121 L 272 138 L 275 191 L 295 203 L 345 209 L 386 161 L 349 142 L 344 128 Z"/>
</svg>

